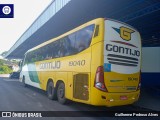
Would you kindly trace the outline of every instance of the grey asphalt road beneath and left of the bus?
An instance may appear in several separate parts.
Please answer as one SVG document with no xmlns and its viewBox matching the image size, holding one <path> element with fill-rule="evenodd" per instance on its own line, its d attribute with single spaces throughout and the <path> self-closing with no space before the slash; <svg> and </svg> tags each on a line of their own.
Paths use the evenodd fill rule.
<svg viewBox="0 0 160 120">
<path fill-rule="evenodd" d="M 31 86 L 23 87 L 17 79 L 0 78 L 0 111 L 73 111 L 73 114 L 74 111 L 80 111 L 81 115 L 86 117 L 85 115 L 88 113 L 84 111 L 148 111 L 148 109 L 136 107 L 134 105 L 111 108 L 95 107 L 76 102 L 70 102 L 67 105 L 61 105 L 57 101 L 49 100 L 44 91 Z M 82 117 L 76 119 L 82 119 Z M 107 119 L 107 117 L 87 117 L 86 119 Z M 109 120 L 110 119 L 115 118 L 109 118 Z M 134 118 L 130 117 L 129 119 Z"/>
</svg>

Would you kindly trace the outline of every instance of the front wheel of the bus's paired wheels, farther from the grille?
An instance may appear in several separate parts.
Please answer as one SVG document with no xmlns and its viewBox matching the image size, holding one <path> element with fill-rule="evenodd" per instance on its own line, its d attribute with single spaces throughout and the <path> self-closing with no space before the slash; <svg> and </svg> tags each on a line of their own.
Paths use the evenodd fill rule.
<svg viewBox="0 0 160 120">
<path fill-rule="evenodd" d="M 47 85 L 47 96 L 51 100 L 56 99 L 56 92 L 55 92 L 55 89 L 54 89 L 53 82 L 51 82 L 51 81 Z"/>
</svg>

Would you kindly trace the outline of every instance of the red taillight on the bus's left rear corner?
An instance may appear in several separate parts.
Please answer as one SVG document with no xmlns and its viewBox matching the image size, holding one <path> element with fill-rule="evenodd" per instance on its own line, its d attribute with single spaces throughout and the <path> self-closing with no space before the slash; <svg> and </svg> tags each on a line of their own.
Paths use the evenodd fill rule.
<svg viewBox="0 0 160 120">
<path fill-rule="evenodd" d="M 94 86 L 99 90 L 107 92 L 107 89 L 104 83 L 103 66 L 99 66 L 97 68 Z"/>
</svg>

